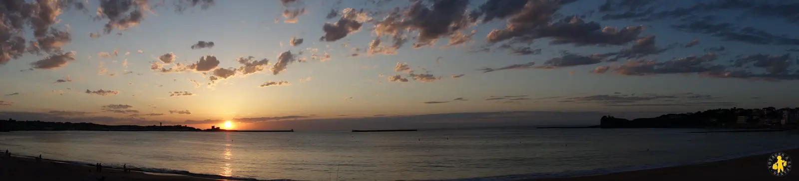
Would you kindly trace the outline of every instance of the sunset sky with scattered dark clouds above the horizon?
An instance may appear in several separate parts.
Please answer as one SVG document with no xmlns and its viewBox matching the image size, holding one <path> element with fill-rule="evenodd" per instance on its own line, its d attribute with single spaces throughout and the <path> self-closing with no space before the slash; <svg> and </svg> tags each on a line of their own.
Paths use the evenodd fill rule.
<svg viewBox="0 0 799 181">
<path fill-rule="evenodd" d="M 7 2 L 0 119 L 595 124 L 799 99 L 788 1 Z"/>
</svg>

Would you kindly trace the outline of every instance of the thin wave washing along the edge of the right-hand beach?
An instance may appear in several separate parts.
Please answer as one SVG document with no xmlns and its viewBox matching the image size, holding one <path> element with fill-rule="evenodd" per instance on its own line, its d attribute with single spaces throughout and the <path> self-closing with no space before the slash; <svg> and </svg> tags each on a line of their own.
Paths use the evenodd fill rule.
<svg viewBox="0 0 799 181">
<path fill-rule="evenodd" d="M 527 180 L 527 179 L 551 179 L 551 178 L 580 177 L 580 176 L 591 176 L 591 175 L 607 175 L 607 174 L 627 172 L 627 171 L 642 171 L 642 170 L 650 170 L 663 167 L 677 167 L 677 166 L 694 165 L 700 163 L 718 162 L 729 159 L 740 159 L 753 155 L 764 155 L 790 149 L 799 149 L 799 146 L 775 148 L 769 151 L 755 151 L 755 152 L 725 156 L 715 159 L 700 159 L 697 161 L 682 162 L 682 163 L 663 163 L 663 164 L 653 164 L 653 165 L 643 165 L 643 166 L 601 168 L 601 169 L 586 170 L 586 171 L 562 171 L 562 172 L 552 172 L 552 173 L 501 175 L 501 176 L 475 177 L 475 178 L 463 178 L 463 179 L 423 179 L 423 180 L 425 181 L 511 181 L 511 180 Z"/>
</svg>

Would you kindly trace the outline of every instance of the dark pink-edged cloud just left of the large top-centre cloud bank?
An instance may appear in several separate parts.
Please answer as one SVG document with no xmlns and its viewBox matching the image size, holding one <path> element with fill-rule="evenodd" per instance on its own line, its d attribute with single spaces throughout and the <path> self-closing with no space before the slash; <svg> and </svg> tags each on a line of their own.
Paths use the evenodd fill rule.
<svg viewBox="0 0 799 181">
<path fill-rule="evenodd" d="M 361 10 L 356 12 L 352 8 L 347 8 L 341 11 L 341 18 L 338 22 L 329 23 L 325 22 L 322 26 L 324 36 L 320 38 L 321 41 L 337 41 L 341 38 L 347 37 L 348 34 L 360 30 L 360 26 L 364 22 L 371 20 L 368 12 Z"/>
</svg>

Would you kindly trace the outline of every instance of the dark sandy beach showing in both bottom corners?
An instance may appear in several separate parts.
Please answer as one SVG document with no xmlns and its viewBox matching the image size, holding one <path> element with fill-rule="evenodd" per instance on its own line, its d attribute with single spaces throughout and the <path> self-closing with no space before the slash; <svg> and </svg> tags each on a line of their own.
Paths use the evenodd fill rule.
<svg viewBox="0 0 799 181">
<path fill-rule="evenodd" d="M 799 149 L 783 151 L 788 155 L 799 155 Z M 753 155 L 739 159 L 699 163 L 678 167 L 663 167 L 642 171 L 626 171 L 606 175 L 590 175 L 570 178 L 531 179 L 535 181 L 624 181 L 624 180 L 799 180 L 799 172 L 777 177 L 766 169 L 770 154 Z M 26 157 L 2 158 L 0 180 L 217 180 L 188 175 L 148 174 L 140 171 L 125 171 L 103 168 L 100 173 L 95 167 L 59 163 Z"/>
</svg>

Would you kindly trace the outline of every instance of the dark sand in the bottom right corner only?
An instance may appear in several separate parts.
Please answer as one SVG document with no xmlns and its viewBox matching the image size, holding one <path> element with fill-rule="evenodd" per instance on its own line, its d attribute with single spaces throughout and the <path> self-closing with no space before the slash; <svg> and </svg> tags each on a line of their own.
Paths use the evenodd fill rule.
<svg viewBox="0 0 799 181">
<path fill-rule="evenodd" d="M 782 151 L 791 159 L 799 158 L 799 149 Z M 674 180 L 799 180 L 799 171 L 777 177 L 769 173 L 769 154 L 753 155 L 738 159 L 721 160 L 677 167 L 663 167 L 642 171 L 626 171 L 607 175 L 590 175 L 555 179 L 530 179 L 535 181 L 674 181 Z"/>
</svg>

